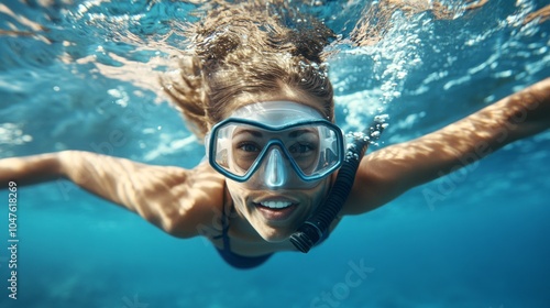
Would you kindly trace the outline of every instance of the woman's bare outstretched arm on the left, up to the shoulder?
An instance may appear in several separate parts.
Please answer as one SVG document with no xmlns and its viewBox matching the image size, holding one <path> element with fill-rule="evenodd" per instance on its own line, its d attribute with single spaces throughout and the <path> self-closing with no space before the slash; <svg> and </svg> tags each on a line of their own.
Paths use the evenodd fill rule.
<svg viewBox="0 0 550 308">
<path fill-rule="evenodd" d="M 61 178 L 182 238 L 197 235 L 196 226 L 210 222 L 211 207 L 222 202 L 222 178 L 208 164 L 188 170 L 81 151 L 0 160 L 2 186 L 10 180 L 23 186 Z"/>
</svg>

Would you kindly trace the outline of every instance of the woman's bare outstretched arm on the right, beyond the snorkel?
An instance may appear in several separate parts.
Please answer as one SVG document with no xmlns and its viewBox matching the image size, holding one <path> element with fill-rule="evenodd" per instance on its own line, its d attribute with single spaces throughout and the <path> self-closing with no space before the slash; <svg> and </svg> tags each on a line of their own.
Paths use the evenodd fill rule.
<svg viewBox="0 0 550 308">
<path fill-rule="evenodd" d="M 375 209 L 506 144 L 550 128 L 550 78 L 419 139 L 363 158 L 344 213 Z"/>
</svg>

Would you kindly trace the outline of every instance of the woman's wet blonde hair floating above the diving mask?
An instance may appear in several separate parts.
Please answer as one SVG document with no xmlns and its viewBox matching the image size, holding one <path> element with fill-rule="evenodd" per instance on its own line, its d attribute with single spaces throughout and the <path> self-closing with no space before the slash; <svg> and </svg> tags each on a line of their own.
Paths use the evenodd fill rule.
<svg viewBox="0 0 550 308">
<path fill-rule="evenodd" d="M 237 108 L 237 98 L 286 88 L 318 101 L 333 120 L 323 48 L 334 34 L 320 21 L 265 4 L 222 6 L 186 36 L 190 48 L 178 56 L 179 69 L 161 84 L 198 138 Z"/>
</svg>

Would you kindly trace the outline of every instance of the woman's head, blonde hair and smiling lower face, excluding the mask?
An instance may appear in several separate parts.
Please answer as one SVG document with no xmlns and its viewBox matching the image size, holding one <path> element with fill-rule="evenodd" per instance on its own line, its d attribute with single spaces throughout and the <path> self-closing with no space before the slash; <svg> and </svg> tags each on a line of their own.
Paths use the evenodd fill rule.
<svg viewBox="0 0 550 308">
<path fill-rule="evenodd" d="M 210 11 L 189 29 L 191 48 L 180 57 L 177 75 L 162 82 L 199 139 L 234 110 L 262 101 L 305 105 L 333 121 L 332 86 L 322 58 L 333 33 L 312 18 L 290 15 L 235 4 Z M 326 197 L 330 177 L 298 189 L 255 188 L 231 179 L 227 185 L 237 211 L 265 240 L 280 241 Z M 288 209 L 274 209 L 282 207 Z"/>
</svg>

